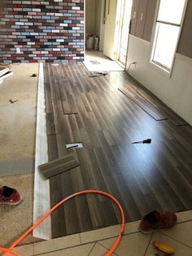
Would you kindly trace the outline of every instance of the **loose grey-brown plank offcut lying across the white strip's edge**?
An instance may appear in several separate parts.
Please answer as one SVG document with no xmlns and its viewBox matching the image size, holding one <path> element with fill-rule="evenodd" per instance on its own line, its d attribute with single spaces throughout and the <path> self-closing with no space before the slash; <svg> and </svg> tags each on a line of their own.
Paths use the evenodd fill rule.
<svg viewBox="0 0 192 256">
<path fill-rule="evenodd" d="M 64 171 L 72 170 L 77 166 L 79 166 L 79 162 L 76 161 L 73 155 L 68 155 L 38 166 L 38 170 L 46 179 L 49 179 L 50 177 L 61 174 Z"/>
</svg>

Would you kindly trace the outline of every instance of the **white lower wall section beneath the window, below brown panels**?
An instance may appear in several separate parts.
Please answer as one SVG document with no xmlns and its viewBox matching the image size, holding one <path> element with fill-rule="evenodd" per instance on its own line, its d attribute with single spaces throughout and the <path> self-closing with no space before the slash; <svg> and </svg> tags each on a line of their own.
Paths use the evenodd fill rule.
<svg viewBox="0 0 192 256">
<path fill-rule="evenodd" d="M 192 126 L 192 59 L 177 54 L 170 78 L 149 59 L 150 42 L 130 35 L 127 68 L 131 62 L 137 64 L 131 65 L 129 74 Z"/>
</svg>

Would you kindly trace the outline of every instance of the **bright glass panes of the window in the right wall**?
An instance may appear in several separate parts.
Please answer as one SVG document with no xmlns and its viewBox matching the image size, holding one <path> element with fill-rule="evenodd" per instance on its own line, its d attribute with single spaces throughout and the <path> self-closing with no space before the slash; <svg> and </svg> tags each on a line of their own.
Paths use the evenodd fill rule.
<svg viewBox="0 0 192 256">
<path fill-rule="evenodd" d="M 186 0 L 159 0 L 151 62 L 170 71 L 181 32 Z"/>
</svg>

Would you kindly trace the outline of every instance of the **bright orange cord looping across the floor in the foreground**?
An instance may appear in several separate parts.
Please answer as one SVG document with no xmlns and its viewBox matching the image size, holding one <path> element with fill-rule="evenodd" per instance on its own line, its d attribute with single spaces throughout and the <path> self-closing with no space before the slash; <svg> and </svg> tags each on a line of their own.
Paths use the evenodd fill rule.
<svg viewBox="0 0 192 256">
<path fill-rule="evenodd" d="M 85 191 L 81 191 L 81 192 L 76 192 L 74 194 L 72 194 L 71 196 L 68 196 L 66 198 L 64 198 L 62 201 L 60 201 L 57 205 L 55 205 L 53 208 L 51 208 L 46 214 L 44 214 L 38 221 L 37 223 L 35 223 L 32 227 L 30 227 L 28 229 L 27 232 L 24 232 L 24 234 L 22 236 L 19 237 L 19 239 L 17 239 L 11 246 L 9 249 L 6 249 L 6 248 L 0 248 L 0 251 L 4 252 L 5 254 L 3 255 L 6 255 L 7 253 L 8 254 L 12 254 L 14 256 L 20 256 L 20 254 L 17 254 L 13 251 L 13 249 L 15 248 L 16 245 L 19 245 L 20 244 L 20 241 L 23 241 L 24 238 L 26 236 L 28 236 L 28 234 L 30 232 L 33 231 L 33 229 L 35 229 L 41 222 L 44 221 L 44 219 L 46 219 L 53 211 L 55 211 L 60 205 L 62 205 L 64 202 L 68 201 L 69 199 L 71 199 L 72 197 L 75 197 L 75 196 L 80 196 L 80 195 L 83 195 L 83 194 L 89 194 L 89 193 L 95 193 L 95 194 L 101 194 L 103 196 L 107 196 L 109 197 L 112 201 L 114 201 L 116 203 L 116 205 L 119 207 L 120 209 L 120 214 L 121 214 L 121 229 L 120 229 L 120 234 L 116 240 L 116 242 L 114 243 L 114 245 L 112 246 L 112 248 L 110 249 L 110 251 L 106 254 L 106 256 L 110 256 L 112 253 L 115 252 L 116 248 L 118 247 L 118 245 L 120 244 L 120 240 L 123 236 L 123 233 L 124 233 L 124 210 L 122 208 L 122 206 L 120 205 L 120 202 L 116 200 L 116 198 L 114 196 L 111 196 L 110 194 L 108 194 L 107 192 L 103 192 L 103 191 L 100 191 L 100 190 L 85 190 Z"/>
</svg>

